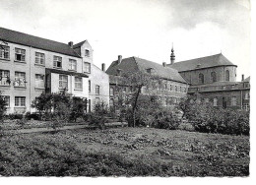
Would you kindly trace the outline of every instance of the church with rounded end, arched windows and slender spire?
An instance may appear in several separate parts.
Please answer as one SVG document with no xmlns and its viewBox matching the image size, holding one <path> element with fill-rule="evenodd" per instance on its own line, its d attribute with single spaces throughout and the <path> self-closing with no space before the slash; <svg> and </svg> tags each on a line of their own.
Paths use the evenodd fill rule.
<svg viewBox="0 0 256 185">
<path fill-rule="evenodd" d="M 173 52 L 173 51 L 172 51 Z M 237 66 L 228 61 L 222 53 L 167 64 L 176 69 L 190 84 L 188 94 L 197 95 L 213 106 L 233 109 L 248 109 L 250 78 L 236 82 Z"/>
</svg>

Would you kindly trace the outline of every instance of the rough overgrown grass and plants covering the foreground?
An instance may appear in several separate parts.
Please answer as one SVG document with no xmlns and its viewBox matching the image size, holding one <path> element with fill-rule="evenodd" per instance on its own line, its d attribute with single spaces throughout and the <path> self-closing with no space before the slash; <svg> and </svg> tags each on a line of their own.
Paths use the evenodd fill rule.
<svg viewBox="0 0 256 185">
<path fill-rule="evenodd" d="M 153 128 L 4 136 L 3 176 L 248 176 L 249 137 Z"/>
</svg>

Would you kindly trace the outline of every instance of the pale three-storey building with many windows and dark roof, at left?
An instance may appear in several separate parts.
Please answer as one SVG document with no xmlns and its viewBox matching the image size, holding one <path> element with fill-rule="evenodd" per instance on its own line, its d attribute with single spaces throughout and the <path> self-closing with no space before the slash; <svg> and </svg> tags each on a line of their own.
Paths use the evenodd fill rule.
<svg viewBox="0 0 256 185">
<path fill-rule="evenodd" d="M 91 110 L 98 100 L 109 102 L 109 80 L 93 62 L 87 40 L 73 45 L 0 28 L 0 91 L 8 113 L 35 111 L 31 104 L 42 92 L 67 90 L 87 98 Z"/>
</svg>

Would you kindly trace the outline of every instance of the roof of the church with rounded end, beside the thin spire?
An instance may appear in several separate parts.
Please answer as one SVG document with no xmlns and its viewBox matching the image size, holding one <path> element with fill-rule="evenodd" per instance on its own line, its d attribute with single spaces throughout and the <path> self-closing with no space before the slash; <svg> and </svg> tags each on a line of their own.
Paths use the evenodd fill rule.
<svg viewBox="0 0 256 185">
<path fill-rule="evenodd" d="M 168 67 L 182 71 L 193 71 L 203 68 L 211 68 L 217 66 L 236 66 L 227 60 L 222 53 L 206 56 L 201 58 L 195 58 L 192 60 L 185 60 L 174 64 L 167 64 Z M 237 66 L 236 66 L 237 67 Z"/>
</svg>

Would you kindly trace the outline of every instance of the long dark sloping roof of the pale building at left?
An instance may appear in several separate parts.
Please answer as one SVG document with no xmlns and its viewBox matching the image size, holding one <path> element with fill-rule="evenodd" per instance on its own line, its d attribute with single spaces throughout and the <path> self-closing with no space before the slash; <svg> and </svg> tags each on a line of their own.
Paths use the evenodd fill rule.
<svg viewBox="0 0 256 185">
<path fill-rule="evenodd" d="M 79 54 L 77 54 L 74 49 L 70 48 L 68 44 L 33 36 L 23 32 L 0 28 L 0 39 L 69 56 L 80 57 Z"/>
</svg>

